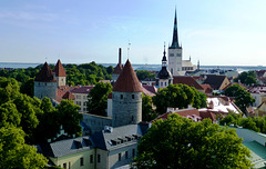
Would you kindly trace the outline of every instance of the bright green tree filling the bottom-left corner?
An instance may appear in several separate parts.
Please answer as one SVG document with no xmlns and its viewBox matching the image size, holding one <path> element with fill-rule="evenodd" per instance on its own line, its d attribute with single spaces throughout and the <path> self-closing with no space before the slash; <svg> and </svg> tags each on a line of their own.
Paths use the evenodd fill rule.
<svg viewBox="0 0 266 169">
<path fill-rule="evenodd" d="M 9 127 L 0 128 L 0 168 L 42 169 L 48 160 L 37 149 L 24 143 L 24 132 Z"/>
</svg>

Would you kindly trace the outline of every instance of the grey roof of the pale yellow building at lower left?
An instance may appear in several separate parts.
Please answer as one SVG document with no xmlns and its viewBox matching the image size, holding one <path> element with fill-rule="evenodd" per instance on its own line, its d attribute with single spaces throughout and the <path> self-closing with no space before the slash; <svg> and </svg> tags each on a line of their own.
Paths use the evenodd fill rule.
<svg viewBox="0 0 266 169">
<path fill-rule="evenodd" d="M 61 140 L 51 143 L 41 143 L 41 152 L 48 157 L 64 157 L 94 148 L 93 140 L 89 136 Z"/>
</svg>

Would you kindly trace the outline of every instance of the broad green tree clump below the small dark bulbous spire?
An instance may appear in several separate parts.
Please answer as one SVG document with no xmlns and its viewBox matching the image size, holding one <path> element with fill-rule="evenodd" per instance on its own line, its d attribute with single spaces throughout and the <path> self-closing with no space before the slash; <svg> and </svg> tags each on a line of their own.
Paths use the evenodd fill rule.
<svg viewBox="0 0 266 169">
<path fill-rule="evenodd" d="M 166 112 L 167 107 L 184 109 L 192 105 L 194 108 L 204 108 L 206 107 L 206 95 L 186 84 L 170 84 L 158 90 L 153 97 L 153 102 L 156 111 L 162 115 Z"/>
</svg>

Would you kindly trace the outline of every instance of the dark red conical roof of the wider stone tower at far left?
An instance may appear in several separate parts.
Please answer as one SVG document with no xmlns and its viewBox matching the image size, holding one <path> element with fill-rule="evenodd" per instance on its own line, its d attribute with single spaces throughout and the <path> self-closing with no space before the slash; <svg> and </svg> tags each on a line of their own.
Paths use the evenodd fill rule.
<svg viewBox="0 0 266 169">
<path fill-rule="evenodd" d="M 40 72 L 37 74 L 35 81 L 41 81 L 41 82 L 57 81 L 57 79 L 53 79 L 53 72 L 47 62 L 43 64 Z"/>
</svg>

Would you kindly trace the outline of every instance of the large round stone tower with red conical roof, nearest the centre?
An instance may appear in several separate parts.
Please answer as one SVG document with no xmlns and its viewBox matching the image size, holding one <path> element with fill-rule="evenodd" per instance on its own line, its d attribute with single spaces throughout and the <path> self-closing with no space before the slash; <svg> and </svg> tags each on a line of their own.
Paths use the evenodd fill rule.
<svg viewBox="0 0 266 169">
<path fill-rule="evenodd" d="M 142 87 L 127 60 L 113 87 L 112 126 L 142 121 Z"/>
</svg>

